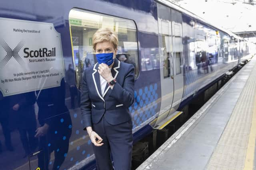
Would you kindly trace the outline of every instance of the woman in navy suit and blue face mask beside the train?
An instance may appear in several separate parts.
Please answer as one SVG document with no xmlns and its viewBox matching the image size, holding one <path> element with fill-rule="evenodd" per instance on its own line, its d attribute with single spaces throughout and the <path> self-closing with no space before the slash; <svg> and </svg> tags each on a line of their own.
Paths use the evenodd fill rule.
<svg viewBox="0 0 256 170">
<path fill-rule="evenodd" d="M 93 143 L 98 170 L 130 170 L 134 102 L 134 66 L 116 59 L 118 37 L 99 29 L 92 37 L 98 63 L 86 68 L 81 93 L 84 130 Z"/>
</svg>

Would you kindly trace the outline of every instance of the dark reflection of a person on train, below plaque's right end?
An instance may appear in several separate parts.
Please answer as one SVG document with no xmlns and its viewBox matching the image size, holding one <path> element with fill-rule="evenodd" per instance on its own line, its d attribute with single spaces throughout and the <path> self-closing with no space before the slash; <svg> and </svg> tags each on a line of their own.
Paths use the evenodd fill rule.
<svg viewBox="0 0 256 170">
<path fill-rule="evenodd" d="M 38 154 L 38 167 L 59 169 L 68 153 L 72 133 L 72 121 L 65 105 L 64 79 L 59 87 L 38 90 L 35 94 L 40 124 L 35 137 L 39 139 L 39 150 L 44 151 L 44 154 Z M 51 158 L 52 152 L 54 158 Z M 52 164 L 49 164 L 50 159 L 54 160 Z"/>
</svg>

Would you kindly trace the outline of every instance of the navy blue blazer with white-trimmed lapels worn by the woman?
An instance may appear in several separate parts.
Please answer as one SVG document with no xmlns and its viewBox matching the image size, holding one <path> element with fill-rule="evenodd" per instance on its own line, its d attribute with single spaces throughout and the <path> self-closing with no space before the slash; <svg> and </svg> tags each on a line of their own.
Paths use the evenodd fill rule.
<svg viewBox="0 0 256 170">
<path fill-rule="evenodd" d="M 114 59 L 111 73 L 116 84 L 112 90 L 106 85 L 101 94 L 98 63 L 84 71 L 80 104 L 84 130 L 98 123 L 104 114 L 112 125 L 131 119 L 128 107 L 134 102 L 134 66 Z"/>
</svg>

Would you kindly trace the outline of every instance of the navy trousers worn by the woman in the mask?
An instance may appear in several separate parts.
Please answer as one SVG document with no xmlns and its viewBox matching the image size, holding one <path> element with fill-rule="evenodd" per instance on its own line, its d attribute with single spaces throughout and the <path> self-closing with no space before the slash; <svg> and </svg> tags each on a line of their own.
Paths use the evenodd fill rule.
<svg viewBox="0 0 256 170">
<path fill-rule="evenodd" d="M 103 139 L 101 147 L 92 144 L 97 170 L 112 170 L 110 153 L 115 170 L 130 170 L 132 162 L 132 120 L 111 125 L 104 119 L 92 125 L 93 131 Z"/>
</svg>

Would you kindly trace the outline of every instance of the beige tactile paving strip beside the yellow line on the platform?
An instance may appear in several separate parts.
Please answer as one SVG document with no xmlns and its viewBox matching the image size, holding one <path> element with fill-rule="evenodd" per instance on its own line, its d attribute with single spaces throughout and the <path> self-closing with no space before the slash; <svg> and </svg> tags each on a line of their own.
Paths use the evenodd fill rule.
<svg viewBox="0 0 256 170">
<path fill-rule="evenodd" d="M 255 59 L 248 66 L 250 74 L 234 107 L 220 140 L 208 162 L 208 170 L 241 170 L 244 168 L 246 151 L 256 95 Z M 253 66 L 254 65 L 254 66 Z"/>
</svg>

